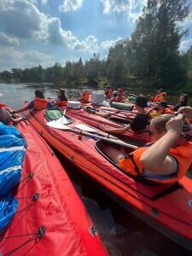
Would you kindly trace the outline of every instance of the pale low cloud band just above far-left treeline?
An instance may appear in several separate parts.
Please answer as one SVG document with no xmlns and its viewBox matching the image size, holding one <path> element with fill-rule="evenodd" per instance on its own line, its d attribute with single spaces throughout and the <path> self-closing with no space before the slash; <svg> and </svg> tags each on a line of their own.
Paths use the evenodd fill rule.
<svg viewBox="0 0 192 256">
<path fill-rule="evenodd" d="M 41 52 L 19 51 L 13 48 L 4 48 L 0 51 L 0 70 L 10 70 L 11 68 L 26 68 L 26 67 L 50 67 L 55 63 L 54 55 L 45 55 Z"/>
</svg>

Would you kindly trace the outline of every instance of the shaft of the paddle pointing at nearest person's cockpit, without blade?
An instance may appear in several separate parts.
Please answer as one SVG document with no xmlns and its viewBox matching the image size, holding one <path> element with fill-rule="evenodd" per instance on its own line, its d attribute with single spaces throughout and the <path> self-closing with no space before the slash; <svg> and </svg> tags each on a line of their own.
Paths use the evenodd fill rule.
<svg viewBox="0 0 192 256">
<path fill-rule="evenodd" d="M 115 139 L 110 139 L 108 137 L 102 137 L 102 136 L 90 133 L 88 131 L 83 131 L 83 130 L 79 131 L 79 130 L 75 130 L 75 129 L 70 128 L 70 127 L 67 127 L 67 130 L 68 131 L 73 131 L 73 132 L 75 132 L 75 133 L 77 133 L 79 135 L 93 137 L 93 138 L 96 138 L 96 139 L 99 139 L 99 140 L 102 140 L 102 141 L 105 141 L 105 142 L 108 142 L 108 143 L 114 143 L 114 144 L 117 144 L 117 145 L 122 146 L 122 147 L 133 148 L 133 149 L 137 149 L 138 148 L 135 145 L 132 145 L 132 144 L 129 144 L 129 143 L 124 143 L 122 141 L 117 141 Z"/>
</svg>

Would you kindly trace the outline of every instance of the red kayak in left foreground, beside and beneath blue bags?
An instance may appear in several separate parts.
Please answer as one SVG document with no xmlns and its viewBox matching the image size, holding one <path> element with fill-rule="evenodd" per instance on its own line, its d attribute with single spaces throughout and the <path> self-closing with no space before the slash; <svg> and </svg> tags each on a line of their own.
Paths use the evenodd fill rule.
<svg viewBox="0 0 192 256">
<path fill-rule="evenodd" d="M 1 234 L 1 255 L 108 255 L 67 173 L 28 121 L 19 207 Z"/>
</svg>

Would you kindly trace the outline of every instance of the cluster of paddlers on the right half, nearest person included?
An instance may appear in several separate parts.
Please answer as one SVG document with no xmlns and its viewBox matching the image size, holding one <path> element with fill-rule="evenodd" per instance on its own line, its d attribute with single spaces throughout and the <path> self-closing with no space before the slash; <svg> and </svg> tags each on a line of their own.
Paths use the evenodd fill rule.
<svg viewBox="0 0 192 256">
<path fill-rule="evenodd" d="M 124 93 L 122 89 L 112 91 L 107 86 L 105 94 L 110 103 L 130 102 L 127 92 Z M 175 106 L 167 104 L 166 91 L 163 89 L 158 90 L 156 96 L 150 97 L 150 102 L 148 97 L 143 95 L 131 97 L 132 102 L 135 102 L 136 115 L 129 125 L 116 129 L 106 129 L 105 125 L 98 127 L 102 131 L 115 134 L 129 130 L 143 131 L 149 127 L 152 143 L 126 155 L 119 155 L 119 150 L 106 147 L 106 154 L 131 176 L 140 176 L 159 183 L 179 180 L 192 163 L 192 127 L 189 123 L 192 108 L 187 107 L 188 96 L 182 94 Z M 106 116 L 102 111 L 95 113 L 102 117 Z M 182 117 L 178 113 L 183 113 Z M 188 137 L 185 137 L 186 133 Z"/>
</svg>

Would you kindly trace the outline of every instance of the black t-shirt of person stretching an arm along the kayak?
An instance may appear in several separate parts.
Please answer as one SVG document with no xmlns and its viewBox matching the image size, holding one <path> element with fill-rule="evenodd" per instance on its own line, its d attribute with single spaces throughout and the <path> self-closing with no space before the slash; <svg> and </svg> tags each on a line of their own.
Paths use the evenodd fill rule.
<svg viewBox="0 0 192 256">
<path fill-rule="evenodd" d="M 131 121 L 132 131 L 142 131 L 148 125 L 148 115 L 146 113 L 137 113 L 136 117 Z"/>
</svg>

